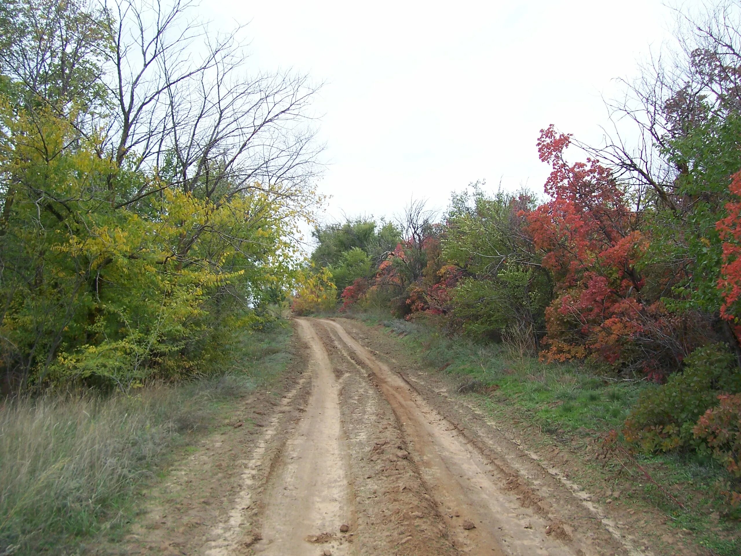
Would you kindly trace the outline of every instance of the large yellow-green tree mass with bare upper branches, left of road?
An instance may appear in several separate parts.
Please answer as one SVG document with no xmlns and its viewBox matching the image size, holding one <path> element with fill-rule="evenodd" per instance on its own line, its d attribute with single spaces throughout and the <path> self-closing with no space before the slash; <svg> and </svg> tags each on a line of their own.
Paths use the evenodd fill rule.
<svg viewBox="0 0 741 556">
<path fill-rule="evenodd" d="M 213 39 L 190 4 L 13 6 L 2 30 L 26 50 L 2 58 L 1 373 L 126 388 L 208 371 L 299 277 L 313 88 L 249 79 L 236 36 Z"/>
</svg>

